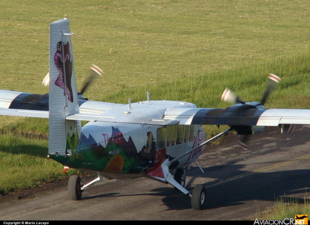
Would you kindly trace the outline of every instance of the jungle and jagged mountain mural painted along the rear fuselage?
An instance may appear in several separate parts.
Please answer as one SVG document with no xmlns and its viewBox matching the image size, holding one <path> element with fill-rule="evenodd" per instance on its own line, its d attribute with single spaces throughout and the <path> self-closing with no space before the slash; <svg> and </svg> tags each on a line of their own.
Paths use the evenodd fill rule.
<svg viewBox="0 0 310 225">
<path fill-rule="evenodd" d="M 68 156 L 66 163 L 63 164 L 75 169 L 110 174 L 150 173 L 160 166 L 166 158 L 170 157 L 166 155 L 165 148 L 158 149 L 160 153 L 157 154 L 158 151 L 153 137 L 150 149 L 146 149 L 146 146 L 144 146 L 138 153 L 131 137 L 126 141 L 122 132 L 114 127 L 112 127 L 111 137 L 105 139 L 107 141 L 105 148 L 100 143 L 97 144 L 91 135 L 87 138 L 82 134 L 78 145 L 78 139 L 74 135 L 68 136 L 68 140 L 67 148 L 76 150 L 72 151 L 72 155 Z M 58 161 L 57 159 L 60 159 L 60 157 L 53 157 L 53 159 Z M 178 163 L 177 161 L 175 166 Z"/>
</svg>

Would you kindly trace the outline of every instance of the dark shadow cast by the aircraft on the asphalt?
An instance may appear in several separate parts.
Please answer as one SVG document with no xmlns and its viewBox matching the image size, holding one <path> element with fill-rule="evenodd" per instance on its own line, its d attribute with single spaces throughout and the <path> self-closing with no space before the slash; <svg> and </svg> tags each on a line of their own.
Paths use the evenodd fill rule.
<svg viewBox="0 0 310 225">
<path fill-rule="evenodd" d="M 245 165 L 227 165 L 229 170 L 234 170 L 234 175 L 246 173 L 241 171 Z M 219 170 L 225 169 L 218 167 Z M 194 168 L 199 172 L 199 168 Z M 208 171 L 208 168 L 204 168 Z M 210 169 L 209 171 L 215 171 Z M 195 172 L 195 171 L 192 171 Z M 219 173 L 216 173 L 218 175 Z M 225 173 L 221 173 L 225 175 Z M 213 173 L 205 172 L 201 176 L 215 178 L 217 180 L 225 179 L 227 176 L 216 177 Z M 304 203 L 304 198 L 290 197 L 291 194 L 299 194 L 310 192 L 310 170 L 286 170 L 278 172 L 258 172 L 235 180 L 221 183 L 212 187 L 206 188 L 206 209 L 214 209 L 227 207 L 232 205 L 241 205 L 245 201 L 260 200 L 272 201 L 282 198 L 286 202 Z M 187 184 L 193 182 L 192 179 L 187 180 Z M 216 182 L 216 181 L 215 181 Z M 204 183 L 206 186 L 212 185 L 215 182 Z M 193 187 L 188 187 L 188 190 L 193 190 Z M 170 185 L 166 187 L 155 188 L 150 190 L 153 193 L 128 194 L 119 195 L 120 193 L 100 194 L 94 196 L 83 197 L 82 200 L 94 198 L 116 198 L 121 196 L 163 196 L 163 204 L 168 206 L 167 210 L 184 210 L 191 209 L 191 201 L 188 196 L 181 192 L 176 192 Z M 284 196 L 284 197 L 283 197 Z M 286 197 L 287 196 L 287 197 Z"/>
</svg>

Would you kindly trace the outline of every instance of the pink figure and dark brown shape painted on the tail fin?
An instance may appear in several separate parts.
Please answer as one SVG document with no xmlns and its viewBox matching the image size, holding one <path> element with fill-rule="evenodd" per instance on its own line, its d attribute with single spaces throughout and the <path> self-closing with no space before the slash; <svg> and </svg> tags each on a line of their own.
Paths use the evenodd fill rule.
<svg viewBox="0 0 310 225">
<path fill-rule="evenodd" d="M 54 55 L 54 63 L 59 71 L 59 76 L 57 77 L 55 81 L 55 85 L 64 89 L 64 95 L 65 95 L 65 88 L 66 88 L 68 100 L 70 102 L 73 102 L 73 93 L 72 93 L 72 87 L 71 87 L 72 57 L 70 54 L 70 44 L 69 42 L 64 44 L 64 67 L 65 67 L 66 79 L 64 79 L 61 45 L 62 45 L 62 42 L 58 42 L 57 47 L 56 47 L 56 53 Z M 64 81 L 66 81 L 66 85 L 64 85 Z"/>
</svg>

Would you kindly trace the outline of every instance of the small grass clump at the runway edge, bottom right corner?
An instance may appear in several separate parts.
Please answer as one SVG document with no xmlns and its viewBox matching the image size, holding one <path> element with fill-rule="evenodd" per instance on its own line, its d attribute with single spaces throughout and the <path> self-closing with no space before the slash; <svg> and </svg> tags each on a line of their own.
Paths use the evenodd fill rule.
<svg viewBox="0 0 310 225">
<path fill-rule="evenodd" d="M 256 217 L 260 220 L 270 219 L 284 219 L 284 218 L 295 218 L 295 215 L 310 215 L 310 203 L 309 199 L 305 198 L 302 203 L 295 201 L 294 199 L 281 198 L 277 199 L 275 206 L 270 211 L 256 214 Z M 308 218 L 307 218 L 308 219 Z"/>
</svg>

